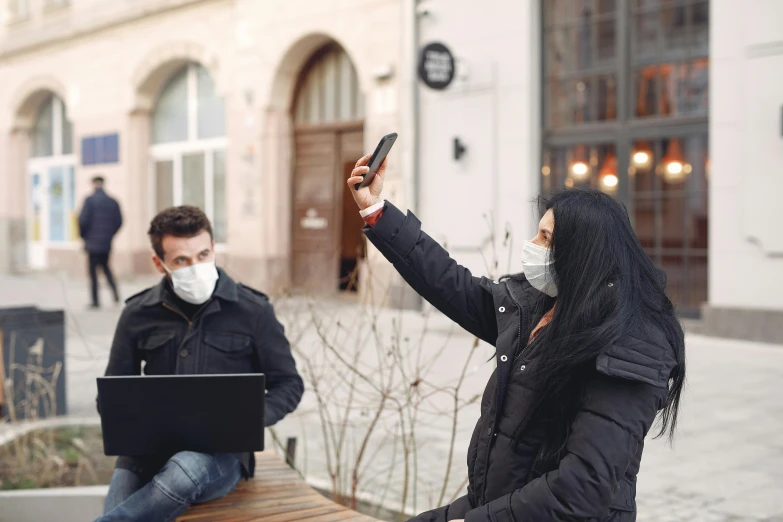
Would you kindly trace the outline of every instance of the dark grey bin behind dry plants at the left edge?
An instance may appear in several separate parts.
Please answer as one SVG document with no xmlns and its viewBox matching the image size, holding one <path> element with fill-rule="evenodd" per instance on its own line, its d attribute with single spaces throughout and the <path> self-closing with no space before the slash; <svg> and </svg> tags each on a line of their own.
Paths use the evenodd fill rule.
<svg viewBox="0 0 783 522">
<path fill-rule="evenodd" d="M 11 421 L 66 412 L 65 314 L 0 308 L 0 412 Z"/>
</svg>

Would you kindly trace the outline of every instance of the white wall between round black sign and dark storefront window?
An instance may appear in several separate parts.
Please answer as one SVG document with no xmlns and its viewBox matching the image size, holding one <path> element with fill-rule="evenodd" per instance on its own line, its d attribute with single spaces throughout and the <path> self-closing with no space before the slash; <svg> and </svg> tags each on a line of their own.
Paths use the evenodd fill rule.
<svg viewBox="0 0 783 522">
<path fill-rule="evenodd" d="M 539 188 L 538 3 L 433 0 L 420 21 L 422 46 L 443 43 L 458 66 L 446 90 L 421 87 L 419 217 L 479 275 L 493 258 L 489 248 L 484 257 L 477 253 L 490 235 L 488 219 L 498 247 L 506 225 L 513 234 L 511 267 L 501 250 L 499 273 L 519 270 L 519 247 L 537 221 L 530 202 Z M 455 137 L 467 147 L 460 161 L 453 159 Z"/>
</svg>

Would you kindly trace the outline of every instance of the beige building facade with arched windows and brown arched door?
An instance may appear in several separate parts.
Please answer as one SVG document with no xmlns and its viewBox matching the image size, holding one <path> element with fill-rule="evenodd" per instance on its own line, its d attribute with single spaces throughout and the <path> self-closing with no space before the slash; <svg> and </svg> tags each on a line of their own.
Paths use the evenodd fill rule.
<svg viewBox="0 0 783 522">
<path fill-rule="evenodd" d="M 399 2 L 3 8 L 5 270 L 83 273 L 75 216 L 96 174 L 125 215 L 119 274 L 151 270 L 146 227 L 177 204 L 203 208 L 221 264 L 273 292 L 336 290 L 363 259 L 343 180 L 401 125 Z"/>
</svg>

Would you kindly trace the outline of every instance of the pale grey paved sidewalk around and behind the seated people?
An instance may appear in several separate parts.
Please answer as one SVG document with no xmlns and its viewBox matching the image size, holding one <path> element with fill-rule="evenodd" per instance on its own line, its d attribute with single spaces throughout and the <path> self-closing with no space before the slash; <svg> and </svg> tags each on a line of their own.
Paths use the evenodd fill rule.
<svg viewBox="0 0 783 522">
<path fill-rule="evenodd" d="M 123 295 L 154 282 L 125 282 Z M 0 277 L 0 306 L 35 304 L 68 312 L 67 402 L 69 414 L 75 416 L 95 415 L 95 377 L 105 368 L 120 311 L 115 307 L 86 310 L 87 291 L 86 281 Z M 110 302 L 108 297 L 107 293 L 104 302 Z M 315 356 L 322 343 L 312 328 L 301 331 L 304 308 L 303 302 L 282 302 L 278 303 L 278 314 L 290 333 L 301 333 L 297 345 L 303 353 Z M 359 313 L 357 307 L 342 301 L 321 306 L 318 311 L 325 323 L 335 324 Z M 378 320 L 378 335 L 391 338 L 395 323 L 400 321 L 406 340 L 424 328 L 420 314 L 385 312 Z M 453 383 L 461 368 L 455 362 L 464 361 L 472 340 L 443 317 L 433 317 L 427 330 L 424 342 L 428 350 L 435 353 L 447 346 L 430 378 L 444 385 Z M 350 333 L 345 339 L 350 339 Z M 492 371 L 492 363 L 486 362 L 491 353 L 489 347 L 479 347 L 465 380 L 465 396 L 483 390 Z M 783 521 L 783 346 L 689 335 L 687 354 L 688 384 L 680 429 L 673 448 L 665 440 L 647 444 L 639 475 L 638 520 Z M 276 429 L 281 437 L 299 437 L 299 466 L 312 482 L 328 485 L 317 412 L 315 395 L 308 392 L 297 413 Z M 449 496 L 452 484 L 456 488 L 464 479 L 465 451 L 477 412 L 477 405 L 469 406 L 458 424 Z M 365 415 L 365 411 L 352 411 L 349 420 L 361 420 Z M 422 414 L 417 433 L 423 444 L 418 468 L 422 486 L 416 500 L 416 509 L 421 511 L 434 507 L 432 498 L 437 495 L 433 492 L 437 493 L 438 484 L 430 481 L 442 477 L 450 429 L 437 414 Z M 391 451 L 391 445 L 380 448 L 365 473 L 383 475 L 383 463 L 395 458 Z M 396 487 L 394 481 L 389 485 L 392 493 Z M 388 498 L 394 498 L 393 494 Z"/>
</svg>

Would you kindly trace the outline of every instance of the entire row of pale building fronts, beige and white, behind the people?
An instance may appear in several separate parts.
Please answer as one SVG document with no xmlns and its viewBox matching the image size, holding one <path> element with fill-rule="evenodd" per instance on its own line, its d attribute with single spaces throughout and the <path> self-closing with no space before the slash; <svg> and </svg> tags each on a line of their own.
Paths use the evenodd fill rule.
<svg viewBox="0 0 783 522">
<path fill-rule="evenodd" d="M 397 131 L 387 197 L 474 272 L 518 269 L 539 193 L 598 188 L 684 316 L 783 341 L 776 0 L 6 4 L 4 270 L 83 271 L 73 216 L 101 173 L 121 273 L 149 270 L 155 211 L 193 203 L 249 284 L 400 301 L 343 183 Z M 443 90 L 417 77 L 435 42 Z"/>
</svg>

